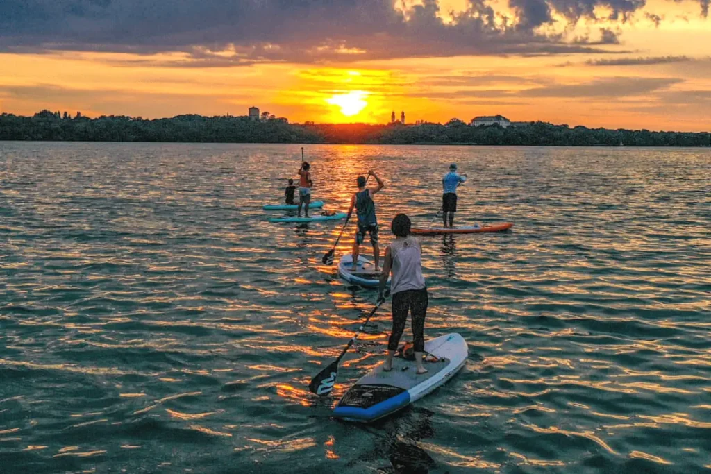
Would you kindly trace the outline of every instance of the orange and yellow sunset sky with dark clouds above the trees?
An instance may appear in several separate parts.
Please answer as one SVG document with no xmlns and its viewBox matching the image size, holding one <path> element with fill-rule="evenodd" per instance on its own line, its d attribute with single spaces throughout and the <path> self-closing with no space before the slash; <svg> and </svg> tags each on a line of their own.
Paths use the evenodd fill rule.
<svg viewBox="0 0 711 474">
<path fill-rule="evenodd" d="M 1 0 L 0 112 L 711 131 L 709 0 Z"/>
</svg>

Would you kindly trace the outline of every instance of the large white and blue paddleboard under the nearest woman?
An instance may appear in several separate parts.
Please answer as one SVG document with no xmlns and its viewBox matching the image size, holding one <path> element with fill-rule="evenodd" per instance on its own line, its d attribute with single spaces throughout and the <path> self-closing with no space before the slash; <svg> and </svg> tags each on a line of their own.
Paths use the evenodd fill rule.
<svg viewBox="0 0 711 474">
<path fill-rule="evenodd" d="M 390 372 L 380 364 L 355 382 L 338 401 L 333 416 L 368 423 L 395 413 L 451 379 L 469 354 L 466 341 L 457 333 L 428 340 L 424 350 L 440 359 L 424 363 L 426 374 L 417 375 L 414 360 L 395 357 Z"/>
</svg>

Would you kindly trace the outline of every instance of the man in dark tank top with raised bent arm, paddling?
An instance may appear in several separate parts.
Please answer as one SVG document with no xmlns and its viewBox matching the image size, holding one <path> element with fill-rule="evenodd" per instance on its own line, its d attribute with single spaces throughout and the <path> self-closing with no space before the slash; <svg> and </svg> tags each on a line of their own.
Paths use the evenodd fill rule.
<svg viewBox="0 0 711 474">
<path fill-rule="evenodd" d="M 368 176 L 373 176 L 378 181 L 377 188 L 366 188 L 368 181 L 365 176 L 358 176 L 358 193 L 351 197 L 351 208 L 348 208 L 348 218 L 353 214 L 358 216 L 358 230 L 355 231 L 353 241 L 353 269 L 358 262 L 360 254 L 360 244 L 365 240 L 365 234 L 370 235 L 370 243 L 373 244 L 373 257 L 375 259 L 375 271 L 380 271 L 380 247 L 378 247 L 378 217 L 375 216 L 375 202 L 373 195 L 383 189 L 383 181 L 373 171 L 368 171 Z"/>
</svg>

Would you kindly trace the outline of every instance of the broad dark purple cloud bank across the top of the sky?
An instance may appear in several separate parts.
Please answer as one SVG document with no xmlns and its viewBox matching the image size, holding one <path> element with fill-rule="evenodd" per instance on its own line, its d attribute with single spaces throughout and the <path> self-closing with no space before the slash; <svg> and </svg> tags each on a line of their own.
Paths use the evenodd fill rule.
<svg viewBox="0 0 711 474">
<path fill-rule="evenodd" d="M 702 1 L 702 5 L 707 0 Z M 645 0 L 509 0 L 502 24 L 488 0 L 469 0 L 447 23 L 437 0 L 407 15 L 396 0 L 0 0 L 0 51 L 91 50 L 140 54 L 181 51 L 196 65 L 313 62 L 483 54 L 599 52 L 602 39 L 565 41 L 536 28 L 552 13 L 624 22 Z M 596 18 L 605 6 L 608 18 Z M 497 21 L 498 18 L 498 21 Z M 213 51 L 234 48 L 225 58 Z M 177 64 L 176 64 L 177 65 Z"/>
</svg>

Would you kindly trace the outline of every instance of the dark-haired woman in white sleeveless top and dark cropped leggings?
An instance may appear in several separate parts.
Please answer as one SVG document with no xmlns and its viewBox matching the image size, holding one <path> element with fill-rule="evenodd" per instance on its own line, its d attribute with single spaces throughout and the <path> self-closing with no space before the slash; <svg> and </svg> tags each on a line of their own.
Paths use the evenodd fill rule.
<svg viewBox="0 0 711 474">
<path fill-rule="evenodd" d="M 422 247 L 419 240 L 410 235 L 410 217 L 398 214 L 392 220 L 390 229 L 395 234 L 395 241 L 385 249 L 385 264 L 380 276 L 380 296 L 383 298 L 387 276 L 392 271 L 390 293 L 392 294 L 392 333 L 387 340 L 387 359 L 383 370 L 392 369 L 392 357 L 397 350 L 402 332 L 405 330 L 407 313 L 412 313 L 412 334 L 415 340 L 415 364 L 417 374 L 424 374 L 427 369 L 422 365 L 424 353 L 424 318 L 427 316 L 427 285 L 422 276 Z"/>
</svg>

